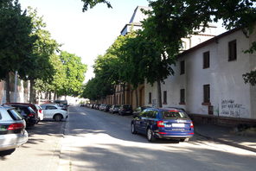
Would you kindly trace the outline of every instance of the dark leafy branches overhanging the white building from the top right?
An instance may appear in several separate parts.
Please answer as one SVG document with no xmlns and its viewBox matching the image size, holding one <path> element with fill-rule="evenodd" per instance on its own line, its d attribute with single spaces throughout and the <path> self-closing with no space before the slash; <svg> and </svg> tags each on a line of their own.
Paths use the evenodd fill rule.
<svg viewBox="0 0 256 171">
<path fill-rule="evenodd" d="M 146 11 L 151 22 L 150 35 L 163 43 L 169 56 L 175 56 L 182 46 L 182 38 L 204 30 L 209 22 L 223 21 L 227 29 L 241 28 L 245 36 L 253 33 L 256 22 L 255 0 L 157 0 L 150 1 L 151 11 Z M 256 49 L 256 41 L 248 52 Z M 244 75 L 246 82 L 253 83 L 255 71 Z"/>
</svg>

